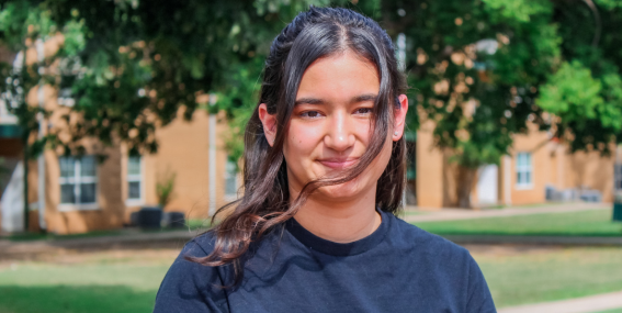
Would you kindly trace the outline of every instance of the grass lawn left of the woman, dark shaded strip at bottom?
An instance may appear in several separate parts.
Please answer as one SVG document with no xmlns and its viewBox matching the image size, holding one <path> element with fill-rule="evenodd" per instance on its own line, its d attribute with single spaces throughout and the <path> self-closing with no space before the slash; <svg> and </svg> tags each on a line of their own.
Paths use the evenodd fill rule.
<svg viewBox="0 0 622 313">
<path fill-rule="evenodd" d="M 151 312 L 174 256 L 145 258 L 4 264 L 0 267 L 0 312 Z"/>
</svg>

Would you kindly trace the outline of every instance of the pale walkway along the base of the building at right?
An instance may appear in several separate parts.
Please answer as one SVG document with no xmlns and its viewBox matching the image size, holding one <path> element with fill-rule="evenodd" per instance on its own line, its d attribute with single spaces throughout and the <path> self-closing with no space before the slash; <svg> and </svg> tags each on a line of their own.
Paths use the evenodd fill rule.
<svg viewBox="0 0 622 313">
<path fill-rule="evenodd" d="M 514 206 L 506 209 L 490 209 L 490 210 L 466 210 L 466 209 L 442 209 L 430 211 L 433 209 L 407 206 L 406 213 L 419 212 L 421 214 L 405 214 L 403 217 L 406 222 L 432 222 L 432 221 L 454 221 L 454 220 L 471 220 L 482 217 L 501 217 L 501 216 L 516 216 L 516 215 L 530 215 L 540 213 L 566 213 L 588 210 L 611 210 L 611 203 L 587 203 L 587 202 L 570 202 L 559 204 L 545 204 L 542 206 Z"/>
</svg>

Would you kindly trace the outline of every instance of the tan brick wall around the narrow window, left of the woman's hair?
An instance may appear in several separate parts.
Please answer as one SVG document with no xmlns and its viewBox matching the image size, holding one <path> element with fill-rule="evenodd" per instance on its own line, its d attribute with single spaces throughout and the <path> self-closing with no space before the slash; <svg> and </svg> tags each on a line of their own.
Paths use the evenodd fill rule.
<svg viewBox="0 0 622 313">
<path fill-rule="evenodd" d="M 181 109 L 183 110 L 183 109 Z M 181 116 L 169 125 L 158 128 L 156 135 L 159 142 L 158 153 L 143 156 L 144 161 L 144 203 L 156 205 L 156 183 L 167 172 L 176 175 L 176 183 L 171 202 L 165 211 L 181 211 L 190 219 L 206 219 L 210 209 L 210 134 L 208 114 L 205 110 L 196 110 L 192 121 L 186 122 Z M 216 128 L 216 208 L 224 205 L 225 198 L 225 165 L 227 155 L 223 149 L 223 135 L 228 126 L 222 121 Z M 126 164 L 123 156 L 123 195 L 127 197 Z M 129 212 L 140 206 L 128 206 Z"/>
</svg>

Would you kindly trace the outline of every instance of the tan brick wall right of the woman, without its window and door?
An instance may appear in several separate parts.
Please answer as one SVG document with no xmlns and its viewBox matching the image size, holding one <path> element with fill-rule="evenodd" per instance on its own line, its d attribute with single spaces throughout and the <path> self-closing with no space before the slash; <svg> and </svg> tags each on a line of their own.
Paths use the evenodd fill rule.
<svg viewBox="0 0 622 313">
<path fill-rule="evenodd" d="M 432 147 L 432 127 L 433 123 L 428 121 L 417 133 L 418 205 L 431 209 L 455 206 L 457 169 L 449 161 L 448 153 Z M 612 201 L 613 156 L 603 157 L 597 152 L 569 154 L 564 144 L 550 141 L 549 135 L 539 132 L 535 125 L 530 125 L 528 134 L 516 135 L 513 139 L 509 149 L 510 161 L 499 161 L 499 203 L 543 203 L 546 201 L 547 185 L 559 190 L 581 186 L 596 189 L 603 194 L 603 201 Z M 532 156 L 532 183 L 529 187 L 517 186 L 518 153 L 531 153 Z M 506 179 L 506 175 L 509 175 L 509 179 Z M 471 199 L 473 204 L 477 203 L 476 190 L 475 186 Z"/>
</svg>

